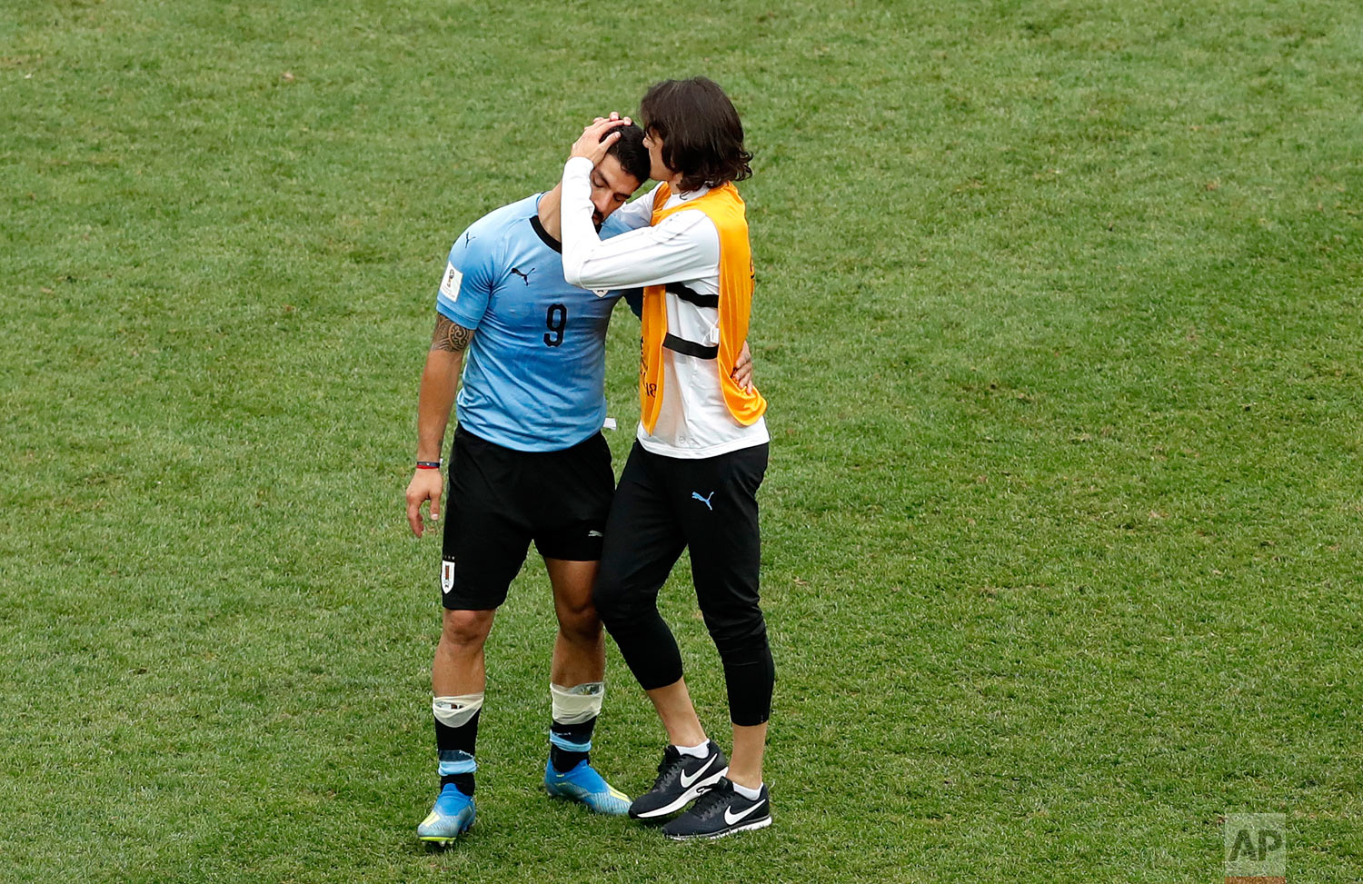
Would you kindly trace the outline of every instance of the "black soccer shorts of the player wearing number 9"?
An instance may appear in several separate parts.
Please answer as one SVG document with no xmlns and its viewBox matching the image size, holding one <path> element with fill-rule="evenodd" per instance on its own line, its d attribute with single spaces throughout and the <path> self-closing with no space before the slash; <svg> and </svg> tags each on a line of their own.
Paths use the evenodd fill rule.
<svg viewBox="0 0 1363 884">
<path fill-rule="evenodd" d="M 458 426 L 450 462 L 440 554 L 450 610 L 499 607 L 530 541 L 545 558 L 601 558 L 615 494 L 601 433 L 563 451 L 515 451 Z"/>
</svg>

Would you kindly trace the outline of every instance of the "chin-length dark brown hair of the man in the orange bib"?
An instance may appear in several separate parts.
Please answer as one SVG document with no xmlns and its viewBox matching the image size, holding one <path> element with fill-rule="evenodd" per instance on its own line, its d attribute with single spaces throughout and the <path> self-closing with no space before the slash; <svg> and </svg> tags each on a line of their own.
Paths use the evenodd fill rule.
<svg viewBox="0 0 1363 884">
<path fill-rule="evenodd" d="M 703 76 L 662 80 L 639 102 L 643 129 L 662 139 L 662 162 L 682 173 L 682 189 L 718 187 L 752 174 L 743 123 L 720 84 Z"/>
</svg>

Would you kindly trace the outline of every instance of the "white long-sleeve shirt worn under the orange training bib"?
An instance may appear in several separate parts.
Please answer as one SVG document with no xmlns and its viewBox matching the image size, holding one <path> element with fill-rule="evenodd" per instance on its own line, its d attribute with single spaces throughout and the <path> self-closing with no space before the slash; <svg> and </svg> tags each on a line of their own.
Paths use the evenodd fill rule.
<svg viewBox="0 0 1363 884">
<path fill-rule="evenodd" d="M 720 232 L 703 211 L 680 211 L 653 221 L 657 188 L 616 210 L 628 233 L 602 241 L 592 223 L 592 161 L 574 157 L 563 166 L 563 277 L 583 289 L 624 289 L 680 282 L 699 296 L 720 293 Z M 706 188 L 671 193 L 664 208 L 703 196 Z M 623 214 L 622 214 L 623 212 Z M 699 306 L 668 291 L 668 331 L 702 346 L 720 343 L 720 311 Z M 720 387 L 718 360 L 662 350 L 662 402 L 649 433 L 639 424 L 638 440 L 647 451 L 669 458 L 713 458 L 770 440 L 766 418 L 744 426 L 733 420 Z"/>
</svg>

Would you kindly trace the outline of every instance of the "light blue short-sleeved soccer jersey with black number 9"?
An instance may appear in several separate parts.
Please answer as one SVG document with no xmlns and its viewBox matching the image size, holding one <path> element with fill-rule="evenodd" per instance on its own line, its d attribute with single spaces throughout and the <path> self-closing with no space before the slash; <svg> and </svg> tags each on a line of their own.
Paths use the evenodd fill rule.
<svg viewBox="0 0 1363 884">
<path fill-rule="evenodd" d="M 563 279 L 540 195 L 503 206 L 459 234 L 436 294 L 442 316 L 477 330 L 465 351 L 458 418 L 518 451 L 571 448 L 605 422 L 605 328 L 623 294 Z M 624 232 L 613 217 L 601 236 Z"/>
</svg>

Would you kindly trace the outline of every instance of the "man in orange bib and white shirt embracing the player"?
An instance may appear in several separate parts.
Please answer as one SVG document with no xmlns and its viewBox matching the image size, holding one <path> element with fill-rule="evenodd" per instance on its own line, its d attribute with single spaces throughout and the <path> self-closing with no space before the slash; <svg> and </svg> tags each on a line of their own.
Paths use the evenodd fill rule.
<svg viewBox="0 0 1363 884">
<path fill-rule="evenodd" d="M 709 79 L 658 83 L 639 112 L 661 184 L 631 208 L 647 200 L 652 226 L 601 240 L 592 225 L 590 174 L 623 121 L 586 127 L 563 168 L 564 278 L 593 290 L 643 287 L 639 429 L 593 598 L 668 733 L 658 778 L 630 816 L 657 819 L 695 801 L 664 834 L 720 838 L 771 824 L 762 755 L 776 670 L 758 603 L 756 504 L 766 400 L 718 369 L 733 365 L 748 331 L 752 253 L 733 183 L 751 174 L 751 154 L 733 104 Z M 701 727 L 658 616 L 658 590 L 683 549 L 724 663 L 732 761 Z"/>
</svg>

